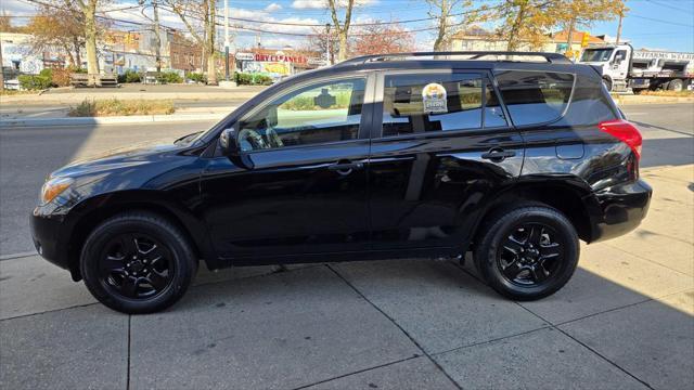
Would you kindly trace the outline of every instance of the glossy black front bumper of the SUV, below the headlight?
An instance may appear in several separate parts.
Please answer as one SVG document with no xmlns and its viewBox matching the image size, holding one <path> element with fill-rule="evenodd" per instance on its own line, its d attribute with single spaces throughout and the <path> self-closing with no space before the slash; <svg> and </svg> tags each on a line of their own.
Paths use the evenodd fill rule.
<svg viewBox="0 0 694 390">
<path fill-rule="evenodd" d="M 64 240 L 64 216 L 44 214 L 37 207 L 29 218 L 31 238 L 39 255 L 53 264 L 69 269 L 67 243 Z"/>
</svg>

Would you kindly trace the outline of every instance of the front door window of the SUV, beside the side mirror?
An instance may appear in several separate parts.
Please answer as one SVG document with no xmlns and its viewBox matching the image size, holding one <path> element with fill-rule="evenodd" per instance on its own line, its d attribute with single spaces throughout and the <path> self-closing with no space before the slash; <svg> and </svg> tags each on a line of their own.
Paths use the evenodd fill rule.
<svg viewBox="0 0 694 390">
<path fill-rule="evenodd" d="M 364 89 L 364 78 L 342 79 L 275 98 L 241 121 L 241 150 L 355 140 L 359 134 Z"/>
</svg>

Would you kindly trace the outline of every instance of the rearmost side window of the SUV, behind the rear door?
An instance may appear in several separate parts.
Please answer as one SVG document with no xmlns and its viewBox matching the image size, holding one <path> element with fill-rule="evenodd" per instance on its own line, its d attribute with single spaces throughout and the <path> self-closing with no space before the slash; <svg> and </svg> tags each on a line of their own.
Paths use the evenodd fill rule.
<svg viewBox="0 0 694 390">
<path fill-rule="evenodd" d="M 506 70 L 496 77 L 515 126 L 558 119 L 568 106 L 574 87 L 570 74 Z"/>
</svg>

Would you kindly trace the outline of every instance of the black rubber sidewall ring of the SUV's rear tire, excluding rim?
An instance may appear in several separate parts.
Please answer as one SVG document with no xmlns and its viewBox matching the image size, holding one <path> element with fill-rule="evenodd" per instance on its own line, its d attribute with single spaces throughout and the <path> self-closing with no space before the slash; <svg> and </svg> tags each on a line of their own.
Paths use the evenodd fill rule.
<svg viewBox="0 0 694 390">
<path fill-rule="evenodd" d="M 504 239 L 514 227 L 520 224 L 536 222 L 547 224 L 561 236 L 564 252 L 560 269 L 554 271 L 553 277 L 539 285 L 522 286 L 506 280 L 498 266 L 498 256 Z M 478 262 L 479 270 L 492 288 L 517 300 L 532 300 L 547 297 L 562 288 L 571 277 L 579 258 L 579 244 L 571 223 L 558 211 L 531 207 L 517 209 L 500 218 L 488 231 L 483 245 L 483 256 Z"/>
</svg>

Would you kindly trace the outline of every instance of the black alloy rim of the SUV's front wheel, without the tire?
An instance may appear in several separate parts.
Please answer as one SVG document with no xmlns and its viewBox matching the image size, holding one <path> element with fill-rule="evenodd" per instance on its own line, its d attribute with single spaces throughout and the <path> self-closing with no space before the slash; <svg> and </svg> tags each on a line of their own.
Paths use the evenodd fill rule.
<svg viewBox="0 0 694 390">
<path fill-rule="evenodd" d="M 138 233 L 120 234 L 105 246 L 100 280 L 106 288 L 130 299 L 147 299 L 174 280 L 171 255 L 158 240 Z"/>
</svg>

